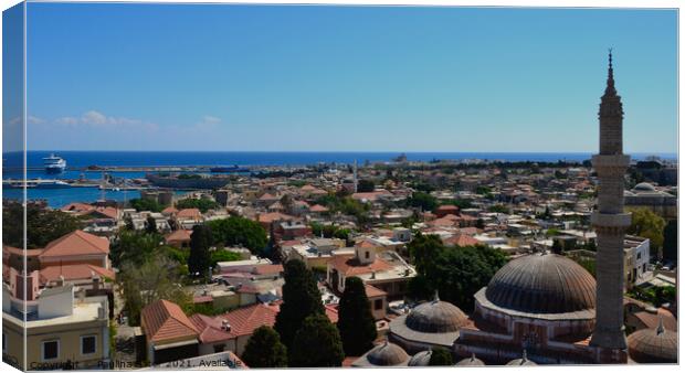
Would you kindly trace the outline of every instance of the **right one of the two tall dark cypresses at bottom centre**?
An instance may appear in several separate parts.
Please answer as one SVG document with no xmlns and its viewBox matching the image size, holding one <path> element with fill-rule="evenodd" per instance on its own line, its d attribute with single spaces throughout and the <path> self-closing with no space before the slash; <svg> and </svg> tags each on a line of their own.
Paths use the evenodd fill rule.
<svg viewBox="0 0 685 373">
<path fill-rule="evenodd" d="M 363 283 L 359 277 L 345 279 L 345 291 L 338 307 L 338 330 L 348 356 L 359 356 L 373 347 L 376 320 L 371 313 Z"/>
</svg>

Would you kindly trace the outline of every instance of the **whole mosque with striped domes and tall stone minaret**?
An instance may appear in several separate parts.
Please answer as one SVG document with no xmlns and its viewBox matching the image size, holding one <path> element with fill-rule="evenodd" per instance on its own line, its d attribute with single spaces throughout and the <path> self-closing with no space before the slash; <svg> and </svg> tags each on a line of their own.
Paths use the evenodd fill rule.
<svg viewBox="0 0 685 373">
<path fill-rule="evenodd" d="M 388 340 L 354 366 L 428 365 L 431 351 L 445 348 L 456 365 L 675 363 L 677 333 L 643 329 L 625 338 L 622 243 L 631 215 L 623 212 L 623 109 L 609 77 L 600 104 L 600 152 L 593 167 L 600 182 L 592 224 L 598 233 L 597 280 L 560 253 L 510 260 L 475 295 L 466 316 L 456 306 L 432 301 L 389 326 Z"/>
</svg>

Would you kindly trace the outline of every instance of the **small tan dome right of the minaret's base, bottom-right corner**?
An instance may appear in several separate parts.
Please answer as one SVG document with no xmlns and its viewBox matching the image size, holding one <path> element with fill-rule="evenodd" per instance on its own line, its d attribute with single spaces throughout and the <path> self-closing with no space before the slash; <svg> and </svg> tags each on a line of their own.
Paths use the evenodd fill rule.
<svg viewBox="0 0 685 373">
<path fill-rule="evenodd" d="M 639 363 L 677 363 L 678 334 L 666 330 L 660 318 L 658 327 L 641 329 L 628 335 L 628 353 Z"/>
</svg>

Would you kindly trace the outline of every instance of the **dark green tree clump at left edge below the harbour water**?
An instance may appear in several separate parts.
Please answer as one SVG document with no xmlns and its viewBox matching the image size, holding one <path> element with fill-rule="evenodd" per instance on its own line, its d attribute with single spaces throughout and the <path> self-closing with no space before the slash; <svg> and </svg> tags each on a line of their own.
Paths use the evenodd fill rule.
<svg viewBox="0 0 685 373">
<path fill-rule="evenodd" d="M 4 202 L 2 206 L 2 243 L 22 248 L 24 244 L 23 206 Z M 81 230 L 83 223 L 60 210 L 48 210 L 39 203 L 27 204 L 27 248 L 42 248 L 51 241 Z"/>
</svg>

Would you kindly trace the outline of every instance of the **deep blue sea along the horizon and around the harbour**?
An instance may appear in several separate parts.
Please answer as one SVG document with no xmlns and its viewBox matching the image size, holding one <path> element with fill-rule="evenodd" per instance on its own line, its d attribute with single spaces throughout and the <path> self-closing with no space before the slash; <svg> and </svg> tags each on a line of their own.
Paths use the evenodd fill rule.
<svg viewBox="0 0 685 373">
<path fill-rule="evenodd" d="M 154 167 L 154 166 L 307 166 L 316 163 L 347 163 L 357 160 L 359 164 L 366 161 L 391 161 L 401 152 L 266 152 L 266 151 L 29 151 L 27 164 L 29 168 L 41 168 L 43 157 L 56 153 L 67 162 L 67 170 L 59 175 L 46 174 L 42 170 L 28 171 L 28 178 L 42 179 L 86 179 L 98 180 L 102 172 L 81 171 L 88 166 L 118 166 L 118 167 Z M 407 152 L 409 161 L 431 160 L 503 160 L 503 161 L 583 161 L 590 159 L 590 153 L 581 152 Z M 658 156 L 663 159 L 676 159 L 673 153 L 643 153 L 631 154 L 633 159 L 643 159 L 647 156 Z M 19 179 L 22 177 L 22 153 L 8 152 L 2 154 L 3 179 Z M 72 169 L 72 170 L 70 170 Z M 143 172 L 112 172 L 116 178 L 144 178 Z M 29 199 L 46 200 L 53 207 L 63 206 L 70 202 L 93 202 L 102 198 L 96 188 L 70 188 L 53 190 L 29 190 Z M 3 188 L 3 198 L 21 199 L 22 191 Z M 125 201 L 138 198 L 137 191 L 107 191 L 105 198 Z"/>
</svg>

